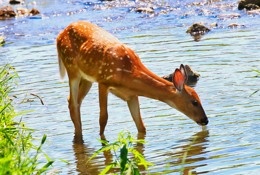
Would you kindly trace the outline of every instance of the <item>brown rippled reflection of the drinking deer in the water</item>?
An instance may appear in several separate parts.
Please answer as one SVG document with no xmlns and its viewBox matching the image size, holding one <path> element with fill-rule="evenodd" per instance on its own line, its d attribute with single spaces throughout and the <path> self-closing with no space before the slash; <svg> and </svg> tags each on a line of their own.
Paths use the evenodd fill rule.
<svg viewBox="0 0 260 175">
<path fill-rule="evenodd" d="M 168 163 L 165 164 L 164 162 L 164 167 L 166 172 L 178 172 L 180 171 L 180 167 L 182 166 L 182 161 L 183 161 L 183 156 L 186 155 L 185 157 L 185 164 L 184 164 L 184 175 L 187 174 L 196 167 L 199 166 L 205 166 L 204 164 L 200 165 L 191 165 L 189 166 L 190 163 L 194 163 L 197 161 L 202 161 L 207 159 L 206 157 L 201 157 L 199 155 L 207 153 L 205 149 L 207 148 L 207 138 L 208 138 L 208 130 L 202 130 L 187 140 L 180 140 L 178 141 L 179 143 L 181 142 L 189 142 L 188 144 L 184 144 L 182 146 L 173 146 L 171 148 L 173 151 L 168 152 L 163 155 L 159 155 L 161 157 L 169 157 L 168 158 Z M 145 140 L 146 135 L 143 133 L 139 133 L 137 136 L 138 140 Z M 101 137 L 102 140 L 105 140 L 104 135 Z M 133 145 L 134 149 L 137 150 L 142 156 L 146 159 L 144 155 L 145 151 L 145 145 L 147 143 L 137 143 Z M 151 144 L 151 143 L 149 143 Z M 178 144 L 179 145 L 179 144 Z M 103 143 L 100 143 L 100 148 L 104 146 Z M 99 148 L 98 148 L 99 149 Z M 180 150 L 181 151 L 175 151 L 175 150 Z M 93 154 L 97 151 L 97 148 L 91 148 L 90 145 L 88 145 L 86 142 L 83 140 L 82 134 L 75 134 L 74 140 L 73 140 L 73 150 L 74 150 L 74 155 L 76 159 L 76 171 L 78 172 L 79 175 L 98 175 L 101 173 L 104 168 L 109 165 L 110 163 L 113 162 L 113 154 L 111 151 L 105 151 L 103 153 L 100 153 L 98 156 L 93 157 L 90 161 L 88 159 L 93 156 Z M 129 158 L 134 158 L 134 155 L 129 154 Z M 88 162 L 87 162 L 88 161 Z M 150 163 L 154 163 L 155 165 L 159 165 L 160 162 L 151 162 L 149 159 L 146 161 Z M 101 163 L 103 162 L 103 163 Z M 163 163 L 163 162 L 162 162 Z M 153 172 L 153 167 L 148 167 L 149 171 L 151 174 L 155 173 Z M 142 175 L 145 175 L 147 173 L 146 169 L 144 166 L 139 166 L 139 171 Z M 109 173 L 118 173 L 120 172 L 119 169 L 111 169 Z M 165 172 L 165 173 L 166 173 Z M 194 174 L 195 172 L 192 172 Z M 167 173 L 166 173 L 167 174 Z"/>
</svg>

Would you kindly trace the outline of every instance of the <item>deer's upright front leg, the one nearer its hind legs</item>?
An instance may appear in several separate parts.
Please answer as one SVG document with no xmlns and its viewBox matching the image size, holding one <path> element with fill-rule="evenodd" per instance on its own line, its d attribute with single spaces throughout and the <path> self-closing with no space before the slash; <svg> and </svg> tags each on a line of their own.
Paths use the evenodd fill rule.
<svg viewBox="0 0 260 175">
<path fill-rule="evenodd" d="M 107 114 L 107 95 L 108 87 L 99 83 L 99 107 L 100 107 L 100 116 L 99 116 L 99 125 L 100 125 L 100 135 L 104 134 L 104 128 L 107 123 L 108 114 Z"/>
</svg>

